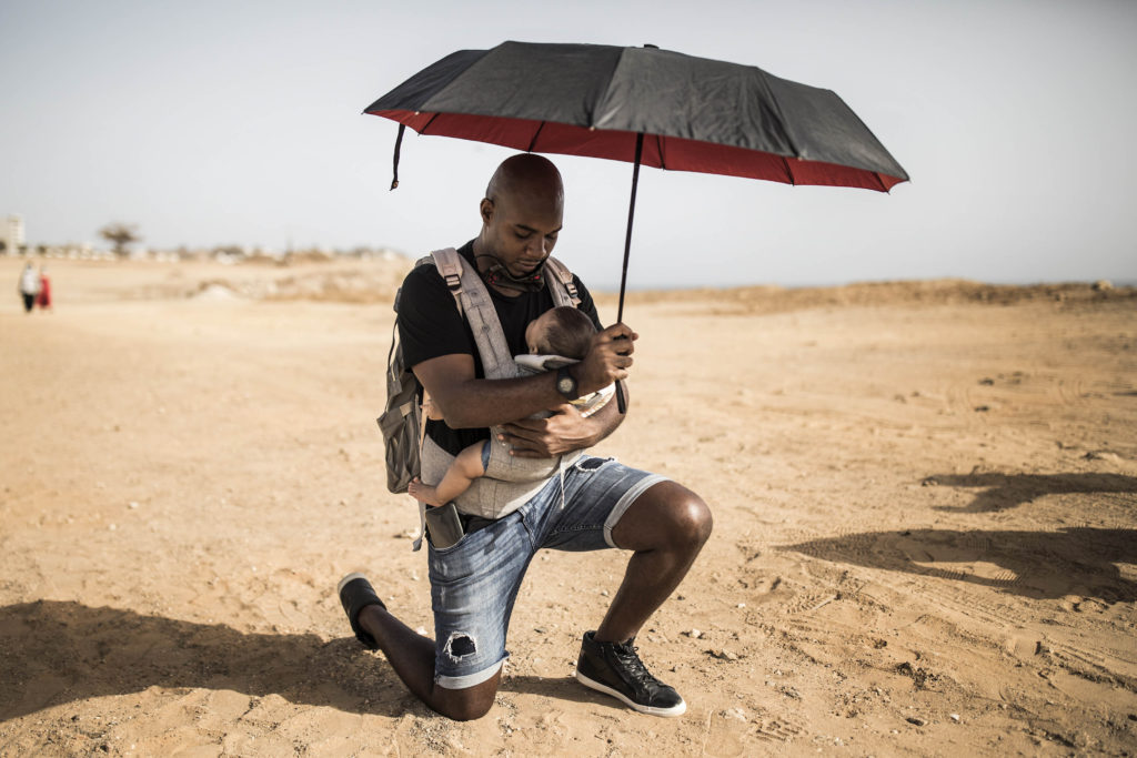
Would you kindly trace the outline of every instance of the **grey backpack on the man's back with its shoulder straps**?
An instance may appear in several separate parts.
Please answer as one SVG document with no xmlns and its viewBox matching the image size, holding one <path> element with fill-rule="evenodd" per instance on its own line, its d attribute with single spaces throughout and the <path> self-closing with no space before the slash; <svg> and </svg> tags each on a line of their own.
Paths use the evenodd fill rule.
<svg viewBox="0 0 1137 758">
<path fill-rule="evenodd" d="M 491 363 L 512 361 L 513 356 L 508 355 L 508 349 L 505 348 L 505 335 L 501 333 L 493 303 L 489 298 L 480 298 L 471 293 L 462 284 L 464 260 L 457 250 L 454 248 L 435 250 L 431 255 L 420 258 L 415 263 L 415 268 L 428 264 L 433 264 L 438 268 L 438 273 L 449 288 L 450 294 L 454 295 L 458 314 L 475 325 L 482 326 L 482 328 L 474 328 L 473 332 L 483 368 Z M 580 298 L 572 281 L 572 272 L 551 257 L 547 259 L 546 268 L 553 274 L 548 286 L 553 293 L 554 305 L 579 306 Z M 465 274 L 471 275 L 468 264 L 465 264 Z M 476 276 L 476 272 L 473 275 Z M 561 288 L 553 285 L 554 280 L 561 284 Z M 391 349 L 387 355 L 387 406 L 376 419 L 383 434 L 387 489 L 395 493 L 406 492 L 410 480 L 420 475 L 422 470 L 422 443 L 426 431 L 426 415 L 422 411 L 425 390 L 418 383 L 418 378 L 410 370 L 410 367 L 406 365 L 399 343 L 399 300 L 401 295 L 402 288 L 399 288 L 395 295 Z M 485 328 L 489 324 L 497 325 L 496 333 Z"/>
</svg>

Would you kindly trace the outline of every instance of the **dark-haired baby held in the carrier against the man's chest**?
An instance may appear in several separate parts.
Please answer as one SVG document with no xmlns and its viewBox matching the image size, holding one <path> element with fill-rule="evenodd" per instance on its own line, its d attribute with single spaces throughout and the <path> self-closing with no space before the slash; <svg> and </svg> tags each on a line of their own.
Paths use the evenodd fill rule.
<svg viewBox="0 0 1137 758">
<path fill-rule="evenodd" d="M 592 319 L 576 308 L 562 306 L 546 310 L 525 327 L 529 355 L 517 356 L 516 361 L 525 374 L 540 374 L 580 363 L 592 345 L 594 334 L 596 325 Z M 603 408 L 614 391 L 615 385 L 609 384 L 604 390 L 571 401 L 571 405 L 587 418 Z M 548 413 L 538 414 L 538 417 L 548 415 Z M 434 420 L 445 420 L 433 406 L 428 407 L 428 416 Z M 485 476 L 485 472 L 490 469 L 491 458 L 507 455 L 503 445 L 496 445 L 490 440 L 475 442 L 458 453 L 438 484 L 434 486 L 423 484 L 416 476 L 407 486 L 407 492 L 428 505 L 445 506 L 468 490 L 475 478 Z M 557 456 L 557 464 L 559 458 Z M 499 469 L 495 467 L 495 470 Z M 496 478 L 508 481 L 506 476 Z"/>
</svg>

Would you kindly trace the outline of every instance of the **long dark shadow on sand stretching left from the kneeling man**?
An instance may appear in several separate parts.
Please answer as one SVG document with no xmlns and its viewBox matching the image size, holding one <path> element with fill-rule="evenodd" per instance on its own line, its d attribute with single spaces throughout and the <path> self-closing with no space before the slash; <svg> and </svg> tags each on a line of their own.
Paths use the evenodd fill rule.
<svg viewBox="0 0 1137 758">
<path fill-rule="evenodd" d="M 431 711 L 354 638 L 244 633 L 223 624 L 40 600 L 0 608 L 0 722 L 150 686 L 279 694 L 347 713 Z M 564 678 L 507 677 L 503 690 L 583 700 Z"/>
</svg>

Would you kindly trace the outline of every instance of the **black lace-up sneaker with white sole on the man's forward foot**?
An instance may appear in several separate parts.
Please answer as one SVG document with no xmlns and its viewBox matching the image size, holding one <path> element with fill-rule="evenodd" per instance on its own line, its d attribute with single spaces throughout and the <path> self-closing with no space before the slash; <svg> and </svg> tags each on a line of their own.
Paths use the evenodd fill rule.
<svg viewBox="0 0 1137 758">
<path fill-rule="evenodd" d="M 623 700 L 641 714 L 681 716 L 687 703 L 673 688 L 652 676 L 633 642 L 597 642 L 596 632 L 586 632 L 576 660 L 576 681 Z"/>
</svg>

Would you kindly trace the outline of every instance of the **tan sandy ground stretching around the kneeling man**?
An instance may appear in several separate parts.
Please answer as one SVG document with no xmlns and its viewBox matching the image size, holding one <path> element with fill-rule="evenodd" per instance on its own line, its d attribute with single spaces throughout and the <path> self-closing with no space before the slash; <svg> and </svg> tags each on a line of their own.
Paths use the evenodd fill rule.
<svg viewBox="0 0 1137 758">
<path fill-rule="evenodd" d="M 456 724 L 334 597 L 431 627 L 374 423 L 399 272 L 50 267 L 55 313 L 0 302 L 0 755 L 1137 753 L 1131 290 L 633 298 L 598 451 L 714 510 L 638 642 L 689 710 L 571 678 L 628 556 L 547 552 Z"/>
</svg>

